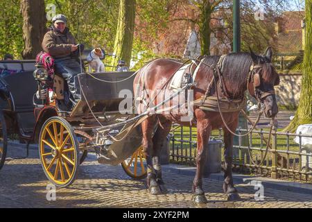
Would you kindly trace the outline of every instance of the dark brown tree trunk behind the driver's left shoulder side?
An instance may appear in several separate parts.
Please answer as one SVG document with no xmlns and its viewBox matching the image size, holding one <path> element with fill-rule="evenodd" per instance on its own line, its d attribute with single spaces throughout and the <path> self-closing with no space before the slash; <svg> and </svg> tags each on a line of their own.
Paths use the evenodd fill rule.
<svg viewBox="0 0 312 222">
<path fill-rule="evenodd" d="M 42 51 L 41 43 L 46 31 L 44 0 L 21 0 L 21 15 L 24 19 L 24 59 L 34 59 Z"/>
</svg>

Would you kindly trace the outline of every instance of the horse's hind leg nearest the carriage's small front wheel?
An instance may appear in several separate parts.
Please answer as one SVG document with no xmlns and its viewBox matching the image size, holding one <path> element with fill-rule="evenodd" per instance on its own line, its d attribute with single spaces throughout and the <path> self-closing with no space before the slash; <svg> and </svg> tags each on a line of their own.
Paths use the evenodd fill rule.
<svg viewBox="0 0 312 222">
<path fill-rule="evenodd" d="M 142 133 L 143 133 L 143 139 L 142 139 L 142 145 L 144 148 L 144 153 L 146 155 L 146 163 L 147 163 L 147 186 L 148 191 L 150 191 L 150 194 L 162 194 L 162 191 L 160 191 L 160 187 L 157 183 L 156 178 L 156 172 L 153 167 L 153 133 L 154 128 L 157 124 L 157 117 L 148 117 L 143 123 L 142 123 Z"/>
</svg>

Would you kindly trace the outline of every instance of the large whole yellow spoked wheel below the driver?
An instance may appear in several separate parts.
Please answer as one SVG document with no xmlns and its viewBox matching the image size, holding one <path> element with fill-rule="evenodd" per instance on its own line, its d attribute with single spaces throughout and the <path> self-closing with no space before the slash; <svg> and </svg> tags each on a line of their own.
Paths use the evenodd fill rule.
<svg viewBox="0 0 312 222">
<path fill-rule="evenodd" d="M 40 132 L 39 154 L 44 173 L 54 185 L 71 185 L 80 164 L 79 143 L 65 119 L 51 117 L 44 123 Z"/>
</svg>

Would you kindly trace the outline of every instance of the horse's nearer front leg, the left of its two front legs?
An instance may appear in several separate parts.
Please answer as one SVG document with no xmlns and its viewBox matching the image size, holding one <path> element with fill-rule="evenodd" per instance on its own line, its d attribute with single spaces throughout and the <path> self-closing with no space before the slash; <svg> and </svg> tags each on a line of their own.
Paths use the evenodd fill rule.
<svg viewBox="0 0 312 222">
<path fill-rule="evenodd" d="M 207 203 L 205 192 L 202 190 L 202 173 L 205 167 L 206 151 L 209 143 L 211 126 L 208 119 L 198 120 L 197 123 L 197 156 L 196 176 L 193 181 L 193 201 Z"/>
</svg>

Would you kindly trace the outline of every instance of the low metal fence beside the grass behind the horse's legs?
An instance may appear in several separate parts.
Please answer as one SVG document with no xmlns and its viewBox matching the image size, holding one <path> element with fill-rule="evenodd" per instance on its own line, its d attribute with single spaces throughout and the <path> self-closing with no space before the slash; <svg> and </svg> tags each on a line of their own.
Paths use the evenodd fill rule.
<svg viewBox="0 0 312 222">
<path fill-rule="evenodd" d="M 246 130 L 237 129 L 236 132 L 244 134 Z M 263 165 L 257 167 L 252 164 L 248 153 L 248 144 L 253 160 L 259 164 L 266 152 L 268 135 L 268 131 L 261 129 L 252 131 L 248 137 L 245 137 L 245 140 L 242 137 L 234 137 L 234 169 L 247 170 L 249 173 L 271 178 L 312 180 L 312 151 L 302 146 L 302 138 L 312 138 L 312 135 L 281 133 L 273 130 L 268 154 Z M 294 142 L 295 137 L 297 137 L 298 143 Z M 170 137 L 171 161 L 195 165 L 196 138 L 196 128 L 175 126 Z M 211 138 L 223 141 L 223 130 L 214 130 L 211 133 Z M 246 139 L 248 139 L 247 143 Z"/>
</svg>

